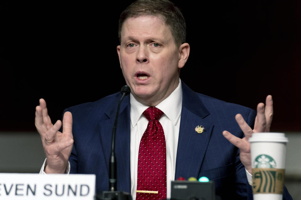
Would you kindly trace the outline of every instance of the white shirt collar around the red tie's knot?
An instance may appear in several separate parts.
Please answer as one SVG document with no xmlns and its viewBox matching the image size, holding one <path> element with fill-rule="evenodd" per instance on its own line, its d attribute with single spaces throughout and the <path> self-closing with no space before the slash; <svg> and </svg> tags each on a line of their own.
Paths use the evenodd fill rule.
<svg viewBox="0 0 301 200">
<path fill-rule="evenodd" d="M 142 113 L 149 106 L 138 102 L 132 94 L 130 94 L 130 105 L 131 125 L 132 127 L 135 127 Z M 177 121 L 179 120 L 182 111 L 181 79 L 179 79 L 179 84 L 177 88 L 166 99 L 159 103 L 156 106 L 156 108 L 159 108 L 166 115 L 166 117 L 172 121 L 174 125 L 177 124 Z"/>
</svg>

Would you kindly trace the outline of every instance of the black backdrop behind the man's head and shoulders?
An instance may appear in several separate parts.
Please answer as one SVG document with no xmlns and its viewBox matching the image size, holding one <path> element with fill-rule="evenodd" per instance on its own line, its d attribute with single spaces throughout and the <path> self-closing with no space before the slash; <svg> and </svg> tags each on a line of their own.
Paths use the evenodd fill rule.
<svg viewBox="0 0 301 200">
<path fill-rule="evenodd" d="M 39 98 L 55 122 L 118 92 L 118 19 L 130 2 L 0 3 L 0 131 L 34 131 Z M 180 78 L 253 109 L 272 94 L 272 130 L 300 131 L 300 1 L 174 2 L 191 46 Z"/>
</svg>

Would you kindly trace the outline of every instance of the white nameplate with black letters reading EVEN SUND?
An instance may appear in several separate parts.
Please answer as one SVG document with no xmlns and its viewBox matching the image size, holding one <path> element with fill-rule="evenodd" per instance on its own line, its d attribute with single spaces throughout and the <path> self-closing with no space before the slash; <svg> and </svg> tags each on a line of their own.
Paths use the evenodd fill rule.
<svg viewBox="0 0 301 200">
<path fill-rule="evenodd" d="M 0 173 L 0 199 L 87 199 L 95 195 L 95 174 Z"/>
</svg>

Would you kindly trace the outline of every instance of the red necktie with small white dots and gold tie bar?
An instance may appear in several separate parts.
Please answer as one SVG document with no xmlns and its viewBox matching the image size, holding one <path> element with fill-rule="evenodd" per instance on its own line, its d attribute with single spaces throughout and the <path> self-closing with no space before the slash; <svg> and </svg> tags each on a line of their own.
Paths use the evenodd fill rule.
<svg viewBox="0 0 301 200">
<path fill-rule="evenodd" d="M 166 199 L 166 144 L 162 125 L 158 121 L 163 114 L 156 107 L 149 107 L 143 112 L 149 122 L 140 141 L 137 190 L 158 193 L 137 192 L 136 200 Z"/>
</svg>

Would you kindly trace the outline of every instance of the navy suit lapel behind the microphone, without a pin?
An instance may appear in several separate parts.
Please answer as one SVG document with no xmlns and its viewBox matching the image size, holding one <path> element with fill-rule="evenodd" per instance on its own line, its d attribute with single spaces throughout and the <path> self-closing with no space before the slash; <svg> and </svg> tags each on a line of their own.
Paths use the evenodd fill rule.
<svg viewBox="0 0 301 200">
<path fill-rule="evenodd" d="M 119 98 L 121 95 L 119 96 Z M 118 98 L 118 100 L 119 100 Z M 111 155 L 112 128 L 114 125 L 117 102 L 112 102 L 105 115 L 108 119 L 99 123 L 101 146 L 109 173 L 109 158 Z M 115 137 L 115 155 L 117 163 L 117 190 L 130 192 L 130 104 L 129 96 L 120 105 Z"/>
</svg>

